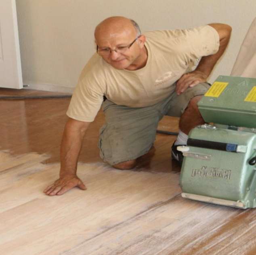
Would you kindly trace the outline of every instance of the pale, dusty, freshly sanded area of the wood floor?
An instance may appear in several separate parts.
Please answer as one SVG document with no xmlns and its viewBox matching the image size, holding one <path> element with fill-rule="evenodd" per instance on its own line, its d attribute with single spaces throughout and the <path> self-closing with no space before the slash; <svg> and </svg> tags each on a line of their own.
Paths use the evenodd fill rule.
<svg viewBox="0 0 256 255">
<path fill-rule="evenodd" d="M 248 245 L 254 211 L 183 199 L 178 173 L 79 164 L 87 190 L 49 197 L 42 191 L 60 165 L 42 164 L 46 158 L 0 151 L 3 255 L 246 254 L 236 240 Z"/>
</svg>

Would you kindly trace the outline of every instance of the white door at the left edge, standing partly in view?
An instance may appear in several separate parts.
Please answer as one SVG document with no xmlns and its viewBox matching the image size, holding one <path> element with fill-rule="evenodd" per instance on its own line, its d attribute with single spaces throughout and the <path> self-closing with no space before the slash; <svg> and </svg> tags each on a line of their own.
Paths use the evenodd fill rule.
<svg viewBox="0 0 256 255">
<path fill-rule="evenodd" d="M 15 0 L 0 0 L 0 87 L 23 88 Z"/>
</svg>

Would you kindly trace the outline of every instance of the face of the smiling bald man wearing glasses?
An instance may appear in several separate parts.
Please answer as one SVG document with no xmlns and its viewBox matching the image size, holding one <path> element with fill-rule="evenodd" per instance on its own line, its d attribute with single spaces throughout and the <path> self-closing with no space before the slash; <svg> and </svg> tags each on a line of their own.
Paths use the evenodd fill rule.
<svg viewBox="0 0 256 255">
<path fill-rule="evenodd" d="M 125 52 L 115 52 L 114 50 L 129 46 L 135 38 L 136 33 L 129 33 L 129 31 L 100 35 L 96 41 L 98 52 L 101 55 L 102 50 L 110 49 L 111 53 L 101 55 L 101 57 L 116 69 L 127 69 L 132 64 L 136 64 L 141 56 L 141 46 L 138 42 L 139 38 Z"/>
</svg>

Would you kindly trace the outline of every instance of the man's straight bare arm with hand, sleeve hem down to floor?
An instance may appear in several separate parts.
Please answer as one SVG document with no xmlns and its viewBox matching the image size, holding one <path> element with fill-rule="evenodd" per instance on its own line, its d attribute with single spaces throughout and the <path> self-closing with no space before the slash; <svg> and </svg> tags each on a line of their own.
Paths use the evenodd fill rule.
<svg viewBox="0 0 256 255">
<path fill-rule="evenodd" d="M 46 195 L 62 195 L 73 187 L 86 189 L 84 183 L 76 175 L 76 170 L 82 140 L 89 125 L 90 122 L 82 122 L 72 118 L 67 121 L 61 141 L 60 178 L 44 190 Z"/>
</svg>

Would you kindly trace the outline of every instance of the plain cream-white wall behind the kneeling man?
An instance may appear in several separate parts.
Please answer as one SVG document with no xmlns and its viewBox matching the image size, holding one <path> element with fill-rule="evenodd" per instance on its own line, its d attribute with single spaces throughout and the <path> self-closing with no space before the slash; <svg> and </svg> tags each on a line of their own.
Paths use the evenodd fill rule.
<svg viewBox="0 0 256 255">
<path fill-rule="evenodd" d="M 24 84 L 69 92 L 95 51 L 94 27 L 110 16 L 137 21 L 142 31 L 208 23 L 233 27 L 229 47 L 210 77 L 229 75 L 255 0 L 16 0 Z M 48 86 L 47 86 L 48 85 Z"/>
</svg>

